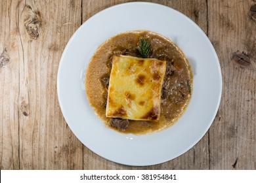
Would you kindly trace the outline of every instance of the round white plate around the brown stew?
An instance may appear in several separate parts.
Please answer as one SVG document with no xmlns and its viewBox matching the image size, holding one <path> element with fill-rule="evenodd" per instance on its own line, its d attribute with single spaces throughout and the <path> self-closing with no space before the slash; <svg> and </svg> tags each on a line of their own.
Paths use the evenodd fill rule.
<svg viewBox="0 0 256 183">
<path fill-rule="evenodd" d="M 124 135 L 96 116 L 85 93 L 85 72 L 96 48 L 124 31 L 148 29 L 168 37 L 187 56 L 194 71 L 194 90 L 179 121 L 158 133 Z M 58 69 L 58 99 L 66 122 L 87 148 L 125 165 L 154 165 L 180 156 L 209 129 L 221 101 L 221 69 L 217 54 L 192 20 L 154 3 L 125 3 L 87 20 L 68 42 Z"/>
</svg>

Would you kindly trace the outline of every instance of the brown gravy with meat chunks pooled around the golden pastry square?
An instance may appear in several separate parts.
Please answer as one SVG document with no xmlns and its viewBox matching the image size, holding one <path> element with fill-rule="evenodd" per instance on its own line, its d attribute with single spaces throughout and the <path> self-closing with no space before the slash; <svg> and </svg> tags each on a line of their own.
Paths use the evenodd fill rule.
<svg viewBox="0 0 256 183">
<path fill-rule="evenodd" d="M 122 133 L 136 135 L 152 133 L 174 124 L 186 109 L 192 92 L 192 70 L 181 49 L 165 37 L 151 31 L 129 31 L 108 39 L 96 50 L 87 68 L 85 88 L 89 103 L 106 125 L 107 87 L 104 80 L 110 76 L 112 56 L 137 56 L 140 38 L 150 42 L 150 55 L 167 61 L 167 69 L 161 90 L 161 115 L 159 122 L 132 121 Z M 116 129 L 114 127 L 111 127 Z"/>
</svg>

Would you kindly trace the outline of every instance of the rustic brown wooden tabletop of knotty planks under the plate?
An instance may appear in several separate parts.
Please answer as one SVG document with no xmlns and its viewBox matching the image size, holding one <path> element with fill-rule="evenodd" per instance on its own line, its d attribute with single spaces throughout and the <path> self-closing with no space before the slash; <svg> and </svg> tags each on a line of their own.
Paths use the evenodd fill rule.
<svg viewBox="0 0 256 183">
<path fill-rule="evenodd" d="M 221 105 L 196 146 L 160 165 L 129 167 L 77 140 L 56 93 L 62 51 L 88 18 L 125 2 L 0 1 L 0 169 L 256 169 L 255 0 L 150 1 L 194 20 L 219 56 Z"/>
</svg>

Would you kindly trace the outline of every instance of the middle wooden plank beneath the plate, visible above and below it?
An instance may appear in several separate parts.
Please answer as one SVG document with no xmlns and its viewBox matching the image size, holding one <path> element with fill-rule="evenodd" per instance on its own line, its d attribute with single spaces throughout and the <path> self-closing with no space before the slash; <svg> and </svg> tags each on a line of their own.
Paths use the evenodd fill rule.
<svg viewBox="0 0 256 183">
<path fill-rule="evenodd" d="M 87 20 L 104 8 L 129 1 L 86 1 L 83 0 L 83 21 Z M 151 1 L 149 1 L 151 2 Z M 207 33 L 207 4 L 206 1 L 152 1 L 175 8 L 190 17 Z M 84 169 L 209 169 L 208 133 L 191 150 L 166 163 L 148 167 L 129 167 L 108 161 L 94 154 L 88 148 L 83 150 Z"/>
</svg>

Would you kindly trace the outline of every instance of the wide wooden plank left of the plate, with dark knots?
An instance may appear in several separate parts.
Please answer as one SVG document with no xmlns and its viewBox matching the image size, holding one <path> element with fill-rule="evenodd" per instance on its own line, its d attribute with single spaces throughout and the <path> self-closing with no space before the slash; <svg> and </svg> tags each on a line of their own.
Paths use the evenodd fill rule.
<svg viewBox="0 0 256 183">
<path fill-rule="evenodd" d="M 3 7 L 6 25 L 0 27 L 10 63 L 0 71 L 1 169 L 82 169 L 83 145 L 66 125 L 56 93 L 62 51 L 81 24 L 81 1 L 12 1 Z"/>
</svg>

